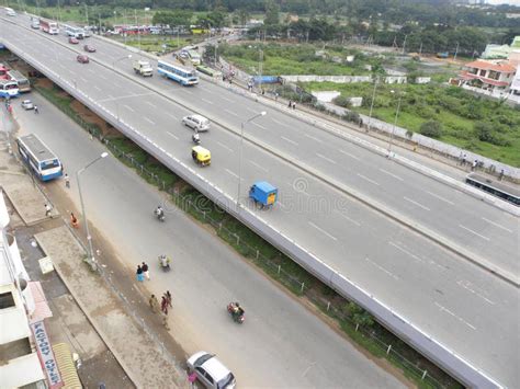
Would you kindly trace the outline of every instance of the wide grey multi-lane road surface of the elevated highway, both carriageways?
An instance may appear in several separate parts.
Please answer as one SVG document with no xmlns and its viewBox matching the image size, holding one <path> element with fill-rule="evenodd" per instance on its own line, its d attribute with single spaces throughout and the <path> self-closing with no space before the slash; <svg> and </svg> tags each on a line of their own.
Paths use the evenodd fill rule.
<svg viewBox="0 0 520 389">
<path fill-rule="evenodd" d="M 211 130 L 200 136 L 212 164 L 197 174 L 465 361 L 505 385 L 518 381 L 511 343 L 519 345 L 519 332 L 510 325 L 518 323 L 518 288 L 445 249 L 463 247 L 518 277 L 518 218 L 215 83 L 186 88 L 136 76 L 129 52 L 105 41 L 95 39 L 82 67 L 65 36 L 32 31 L 25 19 L 16 18 L 20 26 L 2 20 L 8 47 L 186 164 L 193 130 L 182 117 L 210 118 Z M 247 202 L 259 180 L 278 190 L 269 210 Z M 445 238 L 445 247 L 357 201 L 350 188 Z"/>
</svg>

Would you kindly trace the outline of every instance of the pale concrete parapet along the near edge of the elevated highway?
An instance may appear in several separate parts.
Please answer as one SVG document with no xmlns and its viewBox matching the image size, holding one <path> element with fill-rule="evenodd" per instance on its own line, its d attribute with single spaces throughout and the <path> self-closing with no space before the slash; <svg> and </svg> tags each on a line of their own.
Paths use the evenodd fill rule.
<svg viewBox="0 0 520 389">
<path fill-rule="evenodd" d="M 2 18 L 3 19 L 3 18 Z M 10 22 L 10 21 L 8 21 Z M 11 22 L 12 23 L 12 22 Z M 135 144 L 143 148 L 148 153 L 155 156 L 162 164 L 171 169 L 176 174 L 189 182 L 199 192 L 212 199 L 222 208 L 226 209 L 231 216 L 240 220 L 247 227 L 252 229 L 263 239 L 268 240 L 275 248 L 286 253 L 293 261 L 306 268 L 309 273 L 315 275 L 326 285 L 338 291 L 349 299 L 355 301 L 372 314 L 374 314 L 380 322 L 406 340 L 415 347 L 421 351 L 425 355 L 436 362 L 439 366 L 450 371 L 454 377 L 463 384 L 478 387 L 478 388 L 497 388 L 501 387 L 494 378 L 489 377 L 485 371 L 473 366 L 467 361 L 460 357 L 455 352 L 451 351 L 443 344 L 437 342 L 432 336 L 422 332 L 414 323 L 399 316 L 382 301 L 377 300 L 369 291 L 355 285 L 346 276 L 339 274 L 334 268 L 328 266 L 313 253 L 306 251 L 296 241 L 276 230 L 265 220 L 255 215 L 251 210 L 237 205 L 237 203 L 227 193 L 219 187 L 201 176 L 195 170 L 184 164 L 178 158 L 165 150 L 160 145 L 152 141 L 150 138 L 140 134 L 129 124 L 122 121 L 118 115 L 115 115 L 104 106 L 88 96 L 84 92 L 78 90 L 71 82 L 59 77 L 53 69 L 46 65 L 41 64 L 30 54 L 24 53 L 19 47 L 4 42 L 5 46 L 16 56 L 23 58 L 27 64 L 46 75 L 53 82 L 58 84 L 64 90 L 87 105 L 95 114 L 103 117 L 108 123 L 118 128 L 122 134 L 131 138 Z"/>
</svg>

